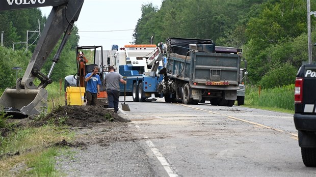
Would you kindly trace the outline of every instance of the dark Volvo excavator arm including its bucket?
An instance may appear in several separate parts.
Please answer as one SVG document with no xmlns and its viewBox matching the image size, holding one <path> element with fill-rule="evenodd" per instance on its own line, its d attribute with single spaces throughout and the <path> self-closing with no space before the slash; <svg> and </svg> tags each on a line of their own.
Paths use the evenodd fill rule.
<svg viewBox="0 0 316 177">
<path fill-rule="evenodd" d="M 84 0 L 0 1 L 0 11 L 53 6 L 23 78 L 17 79 L 15 89 L 6 88 L 0 98 L 0 106 L 4 111 L 13 115 L 28 116 L 47 108 L 48 93 L 44 88 L 52 82 L 49 77 L 60 59 L 83 3 Z M 40 70 L 62 36 L 61 44 L 52 58 L 50 70 L 45 75 Z M 39 85 L 34 84 L 35 78 L 41 81 Z"/>
</svg>

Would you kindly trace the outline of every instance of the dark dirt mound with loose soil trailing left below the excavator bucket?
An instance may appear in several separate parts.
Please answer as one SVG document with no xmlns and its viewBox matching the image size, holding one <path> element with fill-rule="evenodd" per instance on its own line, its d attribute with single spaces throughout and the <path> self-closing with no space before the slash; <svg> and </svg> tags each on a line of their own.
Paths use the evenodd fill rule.
<svg viewBox="0 0 316 177">
<path fill-rule="evenodd" d="M 70 129 L 91 129 L 102 125 L 116 125 L 115 123 L 129 122 L 129 120 L 124 119 L 113 110 L 100 106 L 59 106 L 48 114 L 40 116 L 40 118 L 37 115 L 24 119 L 8 119 L 7 123 L 14 123 L 14 126 L 0 129 L 1 135 L 7 136 L 8 132 L 12 131 L 12 128 L 40 127 L 46 124 L 66 125 Z"/>
</svg>

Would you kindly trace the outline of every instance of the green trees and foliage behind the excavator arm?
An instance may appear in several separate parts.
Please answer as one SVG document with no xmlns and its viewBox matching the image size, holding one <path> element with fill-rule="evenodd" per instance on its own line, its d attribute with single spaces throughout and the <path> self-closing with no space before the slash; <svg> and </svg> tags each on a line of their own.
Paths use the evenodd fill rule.
<svg viewBox="0 0 316 177">
<path fill-rule="evenodd" d="M 45 21 L 46 17 L 37 8 L 0 12 L 0 32 L 4 32 L 4 46 L 0 46 L 0 53 L 2 54 L 2 57 L 0 57 L 0 90 L 15 86 L 16 77 L 23 76 L 39 39 L 39 33 L 29 33 L 28 50 L 26 50 L 27 31 L 42 31 Z M 79 41 L 77 32 L 78 29 L 74 26 L 72 35 L 68 39 L 60 60 L 51 75 L 54 82 L 59 82 L 59 79 L 63 80 L 65 76 L 76 73 L 75 46 Z M 15 44 L 13 50 L 13 43 L 18 42 L 24 43 Z M 52 64 L 51 60 L 57 47 L 51 52 L 41 70 L 44 74 L 49 72 Z M 22 69 L 16 72 L 12 70 L 13 67 Z"/>
</svg>

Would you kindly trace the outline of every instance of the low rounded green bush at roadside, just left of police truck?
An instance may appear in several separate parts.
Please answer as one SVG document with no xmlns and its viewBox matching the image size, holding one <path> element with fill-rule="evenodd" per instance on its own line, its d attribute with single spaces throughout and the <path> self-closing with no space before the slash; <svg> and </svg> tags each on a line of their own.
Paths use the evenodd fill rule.
<svg viewBox="0 0 316 177">
<path fill-rule="evenodd" d="M 297 69 L 289 64 L 276 67 L 269 71 L 260 80 L 260 85 L 263 88 L 274 88 L 283 85 L 290 85 L 295 82 Z"/>
</svg>

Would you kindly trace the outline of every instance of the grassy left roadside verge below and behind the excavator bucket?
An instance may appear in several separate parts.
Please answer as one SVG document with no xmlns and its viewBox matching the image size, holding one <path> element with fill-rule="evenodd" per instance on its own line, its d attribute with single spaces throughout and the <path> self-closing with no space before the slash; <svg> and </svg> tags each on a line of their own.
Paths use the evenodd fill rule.
<svg viewBox="0 0 316 177">
<path fill-rule="evenodd" d="M 59 83 L 50 84 L 48 91 L 48 112 L 64 105 L 64 92 Z M 41 112 L 35 120 L 42 119 L 46 113 Z M 9 130 L 7 136 L 0 134 L 0 176 L 63 176 L 57 171 L 56 156 L 67 153 L 67 147 L 56 143 L 66 140 L 71 142 L 74 133 L 63 124 L 49 124 L 34 128 L 15 128 L 13 123 L 5 124 L 6 117 L 1 114 L 0 128 Z M 66 117 L 65 117 L 66 119 Z"/>
</svg>

